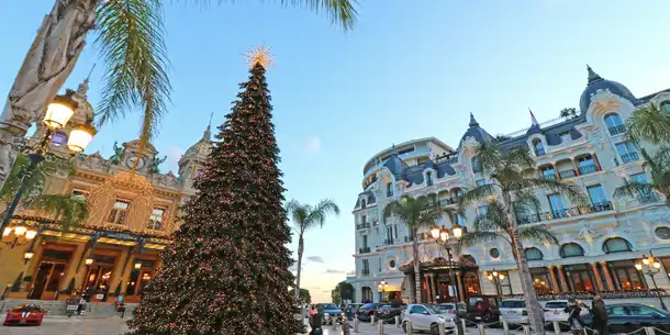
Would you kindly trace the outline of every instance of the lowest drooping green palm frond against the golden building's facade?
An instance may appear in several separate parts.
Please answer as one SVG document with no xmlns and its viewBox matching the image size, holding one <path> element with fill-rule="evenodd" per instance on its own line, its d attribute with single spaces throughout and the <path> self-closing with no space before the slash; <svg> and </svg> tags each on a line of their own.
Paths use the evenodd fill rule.
<svg viewBox="0 0 670 335">
<path fill-rule="evenodd" d="M 88 217 L 88 206 L 85 201 L 69 194 L 41 194 L 31 197 L 27 201 L 29 210 L 36 210 L 54 220 L 64 230 L 80 225 Z"/>
</svg>

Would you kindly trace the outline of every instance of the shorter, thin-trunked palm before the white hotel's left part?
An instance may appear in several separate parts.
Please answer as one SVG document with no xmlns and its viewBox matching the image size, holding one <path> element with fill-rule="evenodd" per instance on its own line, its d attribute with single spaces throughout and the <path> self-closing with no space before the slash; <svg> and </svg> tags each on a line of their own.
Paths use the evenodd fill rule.
<svg viewBox="0 0 670 335">
<path fill-rule="evenodd" d="M 391 201 L 383 209 L 383 223 L 395 216 L 404 222 L 410 232 L 412 232 L 412 257 L 414 258 L 414 286 L 415 291 L 411 292 L 412 301 L 415 303 L 422 302 L 421 297 L 421 263 L 418 259 L 418 230 L 435 225 L 435 222 L 445 215 L 454 216 L 461 214 L 459 209 L 443 208 L 439 205 L 437 198 L 434 194 L 421 196 L 413 198 L 402 196 L 400 199 Z"/>
</svg>

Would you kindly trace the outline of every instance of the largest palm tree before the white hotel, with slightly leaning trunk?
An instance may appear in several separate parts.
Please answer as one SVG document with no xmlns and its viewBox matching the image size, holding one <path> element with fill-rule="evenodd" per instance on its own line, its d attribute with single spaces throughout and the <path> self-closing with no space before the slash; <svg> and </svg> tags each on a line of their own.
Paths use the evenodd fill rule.
<svg viewBox="0 0 670 335">
<path fill-rule="evenodd" d="M 533 279 L 524 254 L 523 241 L 548 239 L 555 242 L 551 232 L 541 226 L 521 227 L 518 219 L 532 212 L 539 213 L 539 200 L 535 197 L 537 189 L 548 189 L 567 196 L 572 203 L 582 205 L 585 197 L 581 189 L 572 183 L 561 183 L 548 178 L 537 178 L 535 161 L 526 148 L 516 147 L 506 152 L 495 145 L 482 144 L 476 150 L 476 157 L 491 182 L 467 191 L 459 203 L 461 209 L 478 201 L 488 200 L 490 213 L 474 221 L 474 232 L 465 242 L 490 241 L 504 238 L 514 250 L 518 265 L 524 300 L 529 309 L 534 334 L 544 334 L 543 311 L 533 289 Z M 532 171 L 533 174 L 528 174 Z M 531 176 L 533 175 L 533 176 Z M 503 230 L 496 231 L 496 228 Z M 473 241 L 469 241 L 473 239 Z"/>
</svg>

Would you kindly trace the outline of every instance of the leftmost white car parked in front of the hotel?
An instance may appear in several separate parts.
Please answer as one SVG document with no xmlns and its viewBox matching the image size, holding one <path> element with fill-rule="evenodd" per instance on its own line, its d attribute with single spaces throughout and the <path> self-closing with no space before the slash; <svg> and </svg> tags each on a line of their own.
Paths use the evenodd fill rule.
<svg viewBox="0 0 670 335">
<path fill-rule="evenodd" d="M 402 328 L 407 333 L 407 322 L 411 322 L 412 331 L 427 331 L 437 334 L 438 324 L 444 323 L 448 334 L 455 333 L 456 323 L 448 315 L 449 313 L 445 313 L 431 303 L 410 304 L 404 311 Z"/>
</svg>

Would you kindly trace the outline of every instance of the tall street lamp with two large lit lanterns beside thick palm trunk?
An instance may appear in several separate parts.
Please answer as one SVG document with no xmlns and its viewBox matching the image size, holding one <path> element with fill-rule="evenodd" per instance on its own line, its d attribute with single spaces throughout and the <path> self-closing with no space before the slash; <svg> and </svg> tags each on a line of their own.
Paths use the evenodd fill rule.
<svg viewBox="0 0 670 335">
<path fill-rule="evenodd" d="M 14 211 L 16 210 L 19 201 L 21 200 L 21 197 L 23 196 L 23 192 L 27 187 L 26 181 L 30 179 L 31 175 L 37 167 L 37 164 L 44 160 L 45 155 L 49 154 L 49 142 L 52 141 L 52 137 L 54 136 L 56 131 L 65 127 L 70 118 L 75 114 L 75 110 L 77 109 L 77 107 L 78 104 L 75 100 L 72 100 L 71 94 L 56 96 L 54 98 L 54 101 L 48 104 L 46 113 L 44 114 L 43 123 L 44 125 L 46 125 L 46 132 L 40 141 L 40 144 L 36 147 L 26 146 L 23 148 L 24 150 L 27 149 L 29 152 L 27 157 L 30 158 L 30 165 L 27 166 L 25 171 L 23 171 L 19 190 L 14 194 L 12 202 L 7 209 L 4 219 L 2 220 L 0 231 L 3 232 L 3 235 L 7 232 L 7 226 L 12 220 L 12 216 L 14 216 Z M 96 129 L 92 126 L 91 122 L 87 124 L 77 125 L 70 131 L 67 141 L 67 147 L 70 149 L 72 155 L 81 153 L 91 142 L 94 134 Z M 57 158 L 63 158 L 54 154 L 51 155 Z"/>
</svg>

